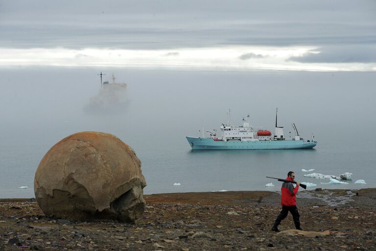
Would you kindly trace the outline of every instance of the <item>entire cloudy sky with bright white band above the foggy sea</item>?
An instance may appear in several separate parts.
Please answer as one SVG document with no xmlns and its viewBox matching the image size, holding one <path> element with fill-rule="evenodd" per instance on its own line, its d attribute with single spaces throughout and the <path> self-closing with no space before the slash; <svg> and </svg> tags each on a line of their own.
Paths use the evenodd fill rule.
<svg viewBox="0 0 376 251">
<path fill-rule="evenodd" d="M 374 0 L 0 0 L 0 67 L 376 71 Z"/>
</svg>

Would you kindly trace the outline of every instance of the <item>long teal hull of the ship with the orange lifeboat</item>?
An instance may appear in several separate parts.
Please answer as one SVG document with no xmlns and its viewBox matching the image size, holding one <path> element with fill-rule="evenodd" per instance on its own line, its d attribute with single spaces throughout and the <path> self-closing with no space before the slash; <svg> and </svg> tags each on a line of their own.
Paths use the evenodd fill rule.
<svg viewBox="0 0 376 251">
<path fill-rule="evenodd" d="M 187 140 L 192 150 L 311 149 L 317 144 L 303 140 L 214 141 L 198 137 L 187 137 Z"/>
</svg>

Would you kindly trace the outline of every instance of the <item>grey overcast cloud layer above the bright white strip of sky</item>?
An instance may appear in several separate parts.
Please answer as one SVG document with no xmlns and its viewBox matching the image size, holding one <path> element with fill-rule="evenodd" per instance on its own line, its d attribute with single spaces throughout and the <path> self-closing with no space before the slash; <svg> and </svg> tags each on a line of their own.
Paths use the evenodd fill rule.
<svg viewBox="0 0 376 251">
<path fill-rule="evenodd" d="M 305 51 L 283 60 L 367 63 L 363 70 L 370 70 L 375 68 L 367 57 L 376 45 L 375 13 L 374 0 L 2 0 L 0 48 L 179 53 L 187 48 L 310 47 L 320 53 Z M 364 50 L 348 50 L 356 47 Z M 351 53 L 341 57 L 341 52 Z M 249 53 L 240 59 L 254 58 Z"/>
</svg>

